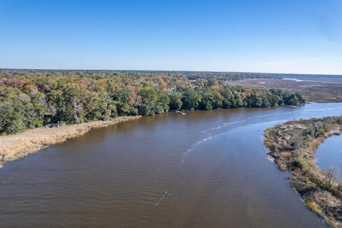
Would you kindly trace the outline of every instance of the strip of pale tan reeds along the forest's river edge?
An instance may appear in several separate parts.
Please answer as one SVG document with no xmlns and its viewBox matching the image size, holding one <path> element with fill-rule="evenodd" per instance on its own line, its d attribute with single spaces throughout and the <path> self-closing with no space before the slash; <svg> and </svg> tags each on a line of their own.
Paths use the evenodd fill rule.
<svg viewBox="0 0 342 228">
<path fill-rule="evenodd" d="M 0 168 L 4 162 L 21 159 L 51 145 L 84 135 L 94 128 L 105 128 L 140 117 L 140 115 L 123 116 L 113 120 L 63 125 L 57 128 L 34 128 L 14 135 L 1 135 Z"/>
</svg>

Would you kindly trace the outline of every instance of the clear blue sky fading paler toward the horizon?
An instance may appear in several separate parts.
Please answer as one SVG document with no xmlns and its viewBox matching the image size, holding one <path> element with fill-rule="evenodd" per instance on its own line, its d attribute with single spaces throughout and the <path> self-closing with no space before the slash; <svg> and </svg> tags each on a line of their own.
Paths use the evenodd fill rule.
<svg viewBox="0 0 342 228">
<path fill-rule="evenodd" d="M 341 0 L 0 0 L 0 68 L 342 74 L 341 12 Z"/>
</svg>

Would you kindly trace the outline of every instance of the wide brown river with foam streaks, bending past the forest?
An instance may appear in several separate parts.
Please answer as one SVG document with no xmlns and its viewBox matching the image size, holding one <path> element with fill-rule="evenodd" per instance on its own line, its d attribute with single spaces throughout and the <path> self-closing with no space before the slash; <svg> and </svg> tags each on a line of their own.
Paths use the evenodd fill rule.
<svg viewBox="0 0 342 228">
<path fill-rule="evenodd" d="M 263 131 L 341 103 L 166 113 L 0 169 L 0 227 L 326 227 L 266 159 Z"/>
</svg>

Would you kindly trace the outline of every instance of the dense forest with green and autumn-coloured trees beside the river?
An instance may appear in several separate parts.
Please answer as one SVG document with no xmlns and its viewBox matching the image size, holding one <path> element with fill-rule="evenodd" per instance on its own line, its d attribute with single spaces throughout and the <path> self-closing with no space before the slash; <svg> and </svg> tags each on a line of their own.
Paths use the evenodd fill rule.
<svg viewBox="0 0 342 228">
<path fill-rule="evenodd" d="M 304 103 L 299 93 L 229 86 L 242 73 L 0 71 L 0 134 L 167 110 L 262 108 Z"/>
</svg>

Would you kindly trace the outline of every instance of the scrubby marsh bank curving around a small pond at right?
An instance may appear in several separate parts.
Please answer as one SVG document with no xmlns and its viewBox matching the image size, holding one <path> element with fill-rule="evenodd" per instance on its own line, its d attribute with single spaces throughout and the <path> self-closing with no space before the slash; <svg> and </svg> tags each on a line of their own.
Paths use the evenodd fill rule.
<svg viewBox="0 0 342 228">
<path fill-rule="evenodd" d="M 323 140 L 341 133 L 342 117 L 289 121 L 264 133 L 279 169 L 293 173 L 291 186 L 331 227 L 342 227 L 342 185 L 336 170 L 318 169 L 315 152 Z"/>
</svg>

